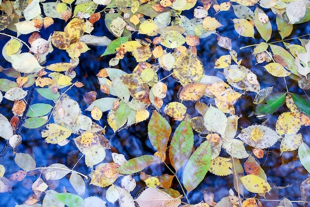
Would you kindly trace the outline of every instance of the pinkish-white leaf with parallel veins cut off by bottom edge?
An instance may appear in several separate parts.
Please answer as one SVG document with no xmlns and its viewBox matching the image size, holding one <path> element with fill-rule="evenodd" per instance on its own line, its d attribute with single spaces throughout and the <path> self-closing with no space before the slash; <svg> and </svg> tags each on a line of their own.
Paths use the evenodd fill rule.
<svg viewBox="0 0 310 207">
<path fill-rule="evenodd" d="M 157 188 L 147 188 L 135 201 L 140 207 L 178 207 L 181 204 L 181 199 L 175 199 Z"/>
</svg>

